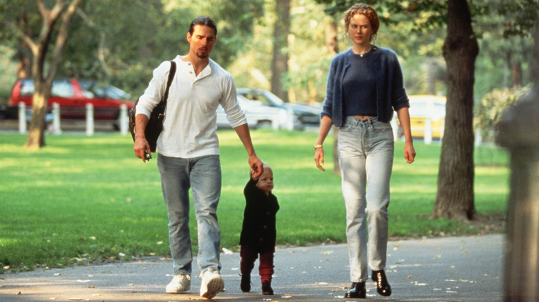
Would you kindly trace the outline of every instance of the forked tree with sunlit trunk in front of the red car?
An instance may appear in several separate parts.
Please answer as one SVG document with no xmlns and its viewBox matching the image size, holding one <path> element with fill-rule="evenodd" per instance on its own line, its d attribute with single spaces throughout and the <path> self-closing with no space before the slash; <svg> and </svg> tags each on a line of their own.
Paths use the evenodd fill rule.
<svg viewBox="0 0 539 302">
<path fill-rule="evenodd" d="M 75 14 L 79 1 L 57 0 L 52 6 L 41 0 L 37 0 L 35 3 L 21 1 L 19 4 L 22 6 L 17 6 L 17 8 L 22 10 L 14 14 L 4 15 L 1 20 L 6 27 L 12 30 L 12 35 L 19 37 L 32 52 L 32 78 L 34 79 L 35 92 L 32 97 L 32 120 L 30 121 L 30 133 L 26 141 L 26 148 L 38 149 L 45 145 L 45 114 L 50 89 L 60 63 L 62 63 L 62 52 L 68 39 L 69 23 Z M 2 10 L 10 10 L 14 7 L 9 6 L 6 2 L 2 1 L 0 6 Z M 33 28 L 36 28 L 36 22 L 39 21 L 41 21 L 39 32 L 32 31 Z M 53 41 L 54 45 L 52 45 Z"/>
</svg>

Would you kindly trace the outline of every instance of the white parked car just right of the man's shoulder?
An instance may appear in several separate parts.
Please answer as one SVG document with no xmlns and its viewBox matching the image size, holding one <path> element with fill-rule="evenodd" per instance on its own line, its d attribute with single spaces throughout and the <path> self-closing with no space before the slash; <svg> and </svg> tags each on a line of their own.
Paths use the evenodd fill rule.
<svg viewBox="0 0 539 302">
<path fill-rule="evenodd" d="M 294 124 L 294 116 L 282 108 L 269 107 L 257 101 L 249 101 L 239 94 L 238 102 L 243 112 L 245 112 L 249 128 L 287 129 L 290 128 L 288 125 Z M 231 128 L 227 120 L 227 114 L 221 105 L 217 108 L 217 128 Z"/>
</svg>

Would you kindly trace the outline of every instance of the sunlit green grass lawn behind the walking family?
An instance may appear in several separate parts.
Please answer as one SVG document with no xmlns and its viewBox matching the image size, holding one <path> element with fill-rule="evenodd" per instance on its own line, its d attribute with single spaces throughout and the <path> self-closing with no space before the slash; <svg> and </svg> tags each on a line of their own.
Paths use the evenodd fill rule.
<svg viewBox="0 0 539 302">
<path fill-rule="evenodd" d="M 222 245 L 237 250 L 243 219 L 247 156 L 232 130 L 218 132 L 223 194 L 218 208 Z M 346 242 L 340 177 L 332 173 L 332 137 L 326 172 L 314 165 L 316 133 L 254 130 L 258 156 L 274 170 L 279 245 Z M 26 135 L 0 134 L 0 263 L 10 270 L 61 267 L 103 259 L 168 255 L 167 210 L 155 159 L 142 163 L 130 136 L 48 135 L 29 152 Z M 501 232 L 500 225 L 431 219 L 440 145 L 415 143 L 408 165 L 396 143 L 391 183 L 390 238 Z M 504 217 L 509 194 L 507 156 L 476 150 L 475 207 L 482 217 Z M 196 250 L 196 223 L 191 209 Z M 0 268 L 0 273 L 3 271 Z"/>
</svg>

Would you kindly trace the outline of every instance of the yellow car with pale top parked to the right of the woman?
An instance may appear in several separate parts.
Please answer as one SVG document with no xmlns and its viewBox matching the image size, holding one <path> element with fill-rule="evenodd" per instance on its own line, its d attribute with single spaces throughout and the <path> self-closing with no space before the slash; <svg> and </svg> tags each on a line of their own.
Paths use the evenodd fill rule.
<svg viewBox="0 0 539 302">
<path fill-rule="evenodd" d="M 444 135 L 446 117 L 446 97 L 437 95 L 410 95 L 410 126 L 412 137 L 424 138 L 425 123 L 430 119 L 432 139 L 441 139 Z"/>
</svg>

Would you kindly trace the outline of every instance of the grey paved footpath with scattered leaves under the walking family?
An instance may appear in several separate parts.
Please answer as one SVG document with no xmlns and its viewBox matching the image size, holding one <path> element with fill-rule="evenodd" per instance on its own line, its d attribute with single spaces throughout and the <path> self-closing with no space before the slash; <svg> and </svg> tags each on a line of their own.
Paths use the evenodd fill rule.
<svg viewBox="0 0 539 302">
<path fill-rule="evenodd" d="M 386 273 L 393 295 L 379 296 L 369 281 L 367 299 L 501 302 L 503 259 L 502 234 L 390 241 Z M 214 301 L 359 300 L 343 299 L 350 286 L 346 244 L 278 249 L 274 296 L 261 294 L 257 272 L 252 274 L 252 291 L 241 292 L 239 261 L 238 253 L 221 254 L 225 292 Z M 170 280 L 171 260 L 158 258 L 0 274 L 0 301 L 205 300 L 198 295 L 198 268 L 188 293 L 165 294 Z"/>
</svg>

